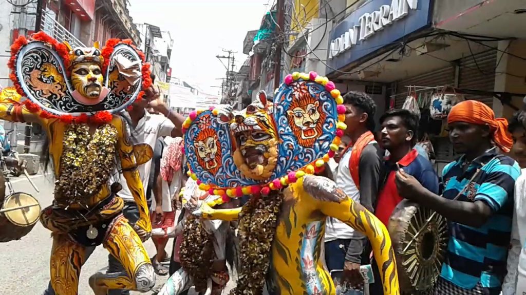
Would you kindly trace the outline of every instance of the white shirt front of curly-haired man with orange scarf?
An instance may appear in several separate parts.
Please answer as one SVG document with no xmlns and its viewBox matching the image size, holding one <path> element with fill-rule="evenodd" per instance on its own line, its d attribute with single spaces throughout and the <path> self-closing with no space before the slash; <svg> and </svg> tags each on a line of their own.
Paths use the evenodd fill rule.
<svg viewBox="0 0 526 295">
<path fill-rule="evenodd" d="M 351 159 L 352 149 L 349 149 L 340 159 L 338 165 L 338 173 L 336 174 L 336 186 L 341 188 L 343 192 L 348 195 L 353 201 L 360 203 L 360 191 L 352 180 L 351 172 L 349 170 L 349 160 Z M 342 223 L 340 220 L 328 217 L 325 225 L 325 241 L 333 241 L 336 239 L 350 239 L 355 230 Z"/>
</svg>

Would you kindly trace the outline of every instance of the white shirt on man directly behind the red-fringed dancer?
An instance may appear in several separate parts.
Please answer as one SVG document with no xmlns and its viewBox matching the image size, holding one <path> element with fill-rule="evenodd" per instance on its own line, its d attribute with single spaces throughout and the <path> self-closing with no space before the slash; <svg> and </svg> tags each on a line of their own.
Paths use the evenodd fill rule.
<svg viewBox="0 0 526 295">
<path fill-rule="evenodd" d="M 175 125 L 164 115 L 150 114 L 145 111 L 144 117 L 139 120 L 135 129 L 130 129 L 128 124 L 126 124 L 126 128 L 133 144 L 147 143 L 151 146 L 151 149 L 154 149 L 157 139 L 161 136 L 170 136 Z M 150 169 L 151 159 L 138 167 L 140 180 L 143 182 L 145 192 L 148 187 Z M 123 189 L 117 195 L 126 202 L 133 202 L 134 198 L 123 175 L 120 175 L 119 183 L 123 186 Z"/>
</svg>

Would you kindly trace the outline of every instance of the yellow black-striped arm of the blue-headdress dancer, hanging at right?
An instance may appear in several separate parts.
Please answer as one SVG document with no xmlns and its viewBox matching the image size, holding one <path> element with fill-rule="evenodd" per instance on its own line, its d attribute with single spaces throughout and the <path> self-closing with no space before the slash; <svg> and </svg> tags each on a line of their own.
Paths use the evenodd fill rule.
<svg viewBox="0 0 526 295">
<path fill-rule="evenodd" d="M 398 272 L 395 251 L 387 228 L 366 208 L 352 201 L 336 184 L 325 177 L 307 175 L 302 187 L 327 216 L 340 219 L 371 241 L 373 254 L 380 270 L 385 295 L 398 295 Z"/>
</svg>

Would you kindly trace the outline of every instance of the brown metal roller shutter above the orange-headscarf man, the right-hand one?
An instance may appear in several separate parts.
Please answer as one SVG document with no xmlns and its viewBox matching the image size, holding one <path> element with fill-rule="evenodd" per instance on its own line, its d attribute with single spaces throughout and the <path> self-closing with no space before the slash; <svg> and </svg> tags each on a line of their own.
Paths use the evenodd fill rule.
<svg viewBox="0 0 526 295">
<path fill-rule="evenodd" d="M 493 49 L 461 59 L 458 88 L 494 91 L 496 66 L 497 50 Z M 484 102 L 489 107 L 493 106 L 492 96 L 466 95 L 464 97 Z"/>
</svg>

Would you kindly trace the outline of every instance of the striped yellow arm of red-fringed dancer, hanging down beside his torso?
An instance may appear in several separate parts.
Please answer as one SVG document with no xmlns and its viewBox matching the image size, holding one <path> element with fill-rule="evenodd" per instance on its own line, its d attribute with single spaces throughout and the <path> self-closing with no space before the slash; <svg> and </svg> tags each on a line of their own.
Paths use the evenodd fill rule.
<svg viewBox="0 0 526 295">
<path fill-rule="evenodd" d="M 133 196 L 135 203 L 139 209 L 139 220 L 135 224 L 147 233 L 151 231 L 150 215 L 148 212 L 148 205 L 144 195 L 143 182 L 140 180 L 139 172 L 137 171 L 137 161 L 135 159 L 133 145 L 129 142 L 129 136 L 126 134 L 126 128 L 122 118 L 116 117 L 114 119 L 115 127 L 118 130 L 117 149 L 120 157 L 120 166 L 123 170 L 123 175 L 126 184 Z"/>
</svg>

